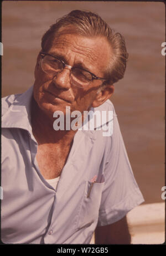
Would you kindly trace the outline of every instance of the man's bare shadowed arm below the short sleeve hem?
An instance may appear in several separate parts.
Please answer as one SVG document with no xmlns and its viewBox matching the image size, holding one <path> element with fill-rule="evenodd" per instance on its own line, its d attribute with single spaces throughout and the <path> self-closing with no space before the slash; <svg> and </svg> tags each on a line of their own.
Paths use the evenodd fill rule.
<svg viewBox="0 0 166 256">
<path fill-rule="evenodd" d="M 95 244 L 130 244 L 126 216 L 107 226 L 96 227 Z"/>
</svg>

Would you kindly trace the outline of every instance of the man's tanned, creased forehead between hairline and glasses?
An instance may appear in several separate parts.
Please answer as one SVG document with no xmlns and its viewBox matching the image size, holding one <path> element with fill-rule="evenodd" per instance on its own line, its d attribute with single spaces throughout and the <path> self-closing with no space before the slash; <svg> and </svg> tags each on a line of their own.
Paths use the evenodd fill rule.
<svg viewBox="0 0 166 256">
<path fill-rule="evenodd" d="M 110 45 L 104 37 L 86 37 L 77 33 L 58 33 L 51 43 L 49 53 L 56 54 L 58 52 L 63 55 L 69 52 L 74 53 L 80 59 L 80 62 L 89 59 L 91 62 L 108 63 Z"/>
</svg>

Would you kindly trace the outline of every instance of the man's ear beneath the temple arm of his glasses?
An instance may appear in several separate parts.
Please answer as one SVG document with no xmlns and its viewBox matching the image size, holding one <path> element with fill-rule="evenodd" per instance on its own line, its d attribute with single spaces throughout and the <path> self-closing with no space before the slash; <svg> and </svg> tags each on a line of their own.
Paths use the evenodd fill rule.
<svg viewBox="0 0 166 256">
<path fill-rule="evenodd" d="M 100 106 L 101 104 L 105 103 L 105 101 L 111 97 L 111 95 L 113 94 L 113 91 L 114 91 L 113 84 L 106 85 L 105 89 L 99 91 L 96 94 L 96 98 L 92 102 L 92 107 L 97 107 L 97 106 Z"/>
</svg>

